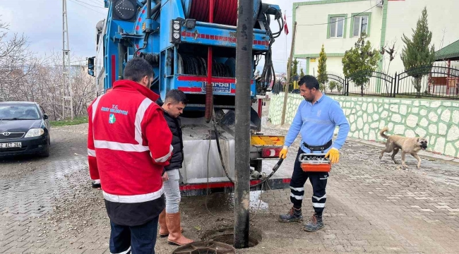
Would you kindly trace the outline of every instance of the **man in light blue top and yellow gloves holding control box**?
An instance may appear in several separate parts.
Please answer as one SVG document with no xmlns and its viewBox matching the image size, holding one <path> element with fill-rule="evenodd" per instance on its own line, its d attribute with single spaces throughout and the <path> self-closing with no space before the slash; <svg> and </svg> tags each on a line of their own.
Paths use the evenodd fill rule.
<svg viewBox="0 0 459 254">
<path fill-rule="evenodd" d="M 322 212 L 327 199 L 328 173 L 304 172 L 298 156 L 302 153 L 326 153 L 326 157 L 332 164 L 337 163 L 340 159 L 339 150 L 349 133 L 349 123 L 340 104 L 319 91 L 318 81 L 314 76 L 305 75 L 299 80 L 299 90 L 305 100 L 299 104 L 297 114 L 285 138 L 284 147 L 280 152 L 280 157 L 285 159 L 288 147 L 292 145 L 298 133 L 301 133 L 302 143 L 297 159 L 295 159 L 292 181 L 290 181 L 290 201 L 293 207 L 287 214 L 280 215 L 279 220 L 280 222 L 299 222 L 303 219 L 304 183 L 309 178 L 313 189 L 314 215 L 309 222 L 304 224 L 304 230 L 314 232 L 323 228 Z M 338 138 L 333 142 L 333 132 L 336 126 L 340 126 L 340 130 Z"/>
</svg>

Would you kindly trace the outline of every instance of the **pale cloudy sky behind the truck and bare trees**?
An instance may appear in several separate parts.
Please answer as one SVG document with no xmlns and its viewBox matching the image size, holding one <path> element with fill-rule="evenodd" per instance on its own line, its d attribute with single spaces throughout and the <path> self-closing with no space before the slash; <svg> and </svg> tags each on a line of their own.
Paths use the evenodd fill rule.
<svg viewBox="0 0 459 254">
<path fill-rule="evenodd" d="M 263 0 L 262 0 L 263 1 Z M 303 0 L 309 1 L 309 0 Z M 95 25 L 107 16 L 103 0 L 67 0 L 68 36 L 71 53 L 95 56 Z M 285 72 L 292 42 L 292 4 L 294 0 L 264 0 L 277 4 L 287 14 L 290 33 L 284 32 L 273 44 L 276 72 Z M 62 50 L 62 0 L 0 0 L 0 22 L 8 23 L 9 35 L 17 32 L 28 37 L 32 52 L 39 56 Z M 27 17 L 27 18 L 25 18 Z M 272 25 L 273 32 L 278 25 Z M 285 47 L 287 45 L 287 47 Z M 261 64 L 263 62 L 261 61 Z M 304 61 L 300 65 L 304 66 Z"/>
</svg>

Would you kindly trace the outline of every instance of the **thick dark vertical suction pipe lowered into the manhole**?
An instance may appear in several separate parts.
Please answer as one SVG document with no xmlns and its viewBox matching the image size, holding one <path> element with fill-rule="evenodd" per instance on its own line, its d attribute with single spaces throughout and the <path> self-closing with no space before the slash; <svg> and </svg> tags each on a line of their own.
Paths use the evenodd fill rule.
<svg viewBox="0 0 459 254">
<path fill-rule="evenodd" d="M 249 247 L 250 85 L 254 44 L 254 0 L 237 1 L 234 248 Z"/>
</svg>

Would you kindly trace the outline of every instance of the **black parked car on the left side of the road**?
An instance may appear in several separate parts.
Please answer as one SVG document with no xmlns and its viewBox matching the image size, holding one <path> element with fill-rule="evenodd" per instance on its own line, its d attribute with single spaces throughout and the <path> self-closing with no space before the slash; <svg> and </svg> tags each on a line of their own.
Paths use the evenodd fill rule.
<svg viewBox="0 0 459 254">
<path fill-rule="evenodd" d="M 49 156 L 50 126 L 36 102 L 0 102 L 0 156 Z"/>
</svg>

